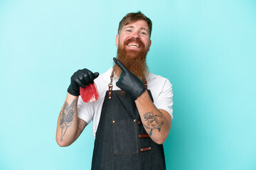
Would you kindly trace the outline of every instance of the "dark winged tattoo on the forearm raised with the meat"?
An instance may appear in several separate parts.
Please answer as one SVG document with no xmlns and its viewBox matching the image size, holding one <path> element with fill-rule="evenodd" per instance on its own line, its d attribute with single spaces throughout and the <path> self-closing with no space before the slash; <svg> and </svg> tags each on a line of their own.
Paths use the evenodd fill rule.
<svg viewBox="0 0 256 170">
<path fill-rule="evenodd" d="M 61 139 L 62 142 L 63 136 L 65 135 L 65 132 L 67 132 L 68 127 L 73 123 L 74 120 L 74 113 L 75 113 L 75 103 L 76 99 L 73 100 L 73 102 L 68 105 L 67 102 L 65 102 L 65 105 L 63 107 L 63 111 L 60 113 L 60 128 L 61 128 Z M 65 131 L 63 132 L 63 130 Z"/>
</svg>

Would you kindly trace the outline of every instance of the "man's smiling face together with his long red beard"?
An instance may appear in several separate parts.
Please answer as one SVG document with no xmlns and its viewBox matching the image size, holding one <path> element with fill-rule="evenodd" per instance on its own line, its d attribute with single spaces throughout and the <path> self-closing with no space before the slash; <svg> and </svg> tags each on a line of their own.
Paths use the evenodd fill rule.
<svg viewBox="0 0 256 170">
<path fill-rule="evenodd" d="M 124 26 L 117 35 L 117 59 L 120 60 L 130 72 L 142 81 L 146 80 L 146 54 L 149 51 L 149 26 L 144 20 L 139 20 Z M 121 69 L 114 64 L 114 72 L 119 75 Z"/>
</svg>

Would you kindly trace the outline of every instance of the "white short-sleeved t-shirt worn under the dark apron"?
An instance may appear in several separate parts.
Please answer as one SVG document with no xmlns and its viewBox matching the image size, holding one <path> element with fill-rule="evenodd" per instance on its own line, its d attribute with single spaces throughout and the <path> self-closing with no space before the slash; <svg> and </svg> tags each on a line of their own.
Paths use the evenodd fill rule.
<svg viewBox="0 0 256 170">
<path fill-rule="evenodd" d="M 97 79 L 95 79 L 95 84 L 97 86 L 97 91 L 99 92 L 99 99 L 95 102 L 85 103 L 82 101 L 81 96 L 78 98 L 78 118 L 85 120 L 88 124 L 92 120 L 92 132 L 95 137 L 97 126 L 100 121 L 100 114 L 102 111 L 102 105 L 105 98 L 106 91 L 108 91 L 108 84 L 110 84 L 110 75 L 112 73 L 112 67 L 107 70 L 104 74 L 100 74 Z M 113 91 L 120 90 L 116 86 L 117 77 L 114 76 L 112 84 Z M 152 97 L 154 99 L 154 105 L 158 109 L 164 109 L 173 116 L 173 91 L 170 81 L 159 75 L 155 75 L 149 72 L 146 77 L 147 89 L 151 91 Z"/>
</svg>

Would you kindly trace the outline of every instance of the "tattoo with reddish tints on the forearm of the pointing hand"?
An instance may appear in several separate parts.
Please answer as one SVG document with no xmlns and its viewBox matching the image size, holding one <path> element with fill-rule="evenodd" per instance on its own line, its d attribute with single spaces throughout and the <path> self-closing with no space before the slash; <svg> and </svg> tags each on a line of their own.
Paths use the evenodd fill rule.
<svg viewBox="0 0 256 170">
<path fill-rule="evenodd" d="M 144 120 L 146 121 L 146 125 L 144 124 L 144 128 L 151 129 L 149 132 L 149 136 L 152 135 L 153 129 L 161 130 L 161 126 L 164 125 L 163 114 L 159 111 L 160 114 L 155 114 L 153 111 L 147 112 L 144 114 Z"/>
</svg>

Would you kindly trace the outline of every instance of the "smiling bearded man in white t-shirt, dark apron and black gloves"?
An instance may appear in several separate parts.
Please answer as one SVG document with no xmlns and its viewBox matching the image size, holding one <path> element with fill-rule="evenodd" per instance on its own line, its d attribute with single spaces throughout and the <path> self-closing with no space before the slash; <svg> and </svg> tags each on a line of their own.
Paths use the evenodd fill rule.
<svg viewBox="0 0 256 170">
<path fill-rule="evenodd" d="M 166 169 L 162 143 L 171 129 L 173 94 L 168 79 L 147 70 L 151 28 L 143 13 L 128 13 L 119 23 L 114 67 L 100 76 L 82 69 L 71 77 L 56 141 L 71 145 L 93 120 L 92 169 Z M 84 103 L 80 87 L 93 83 L 100 98 Z"/>
</svg>

